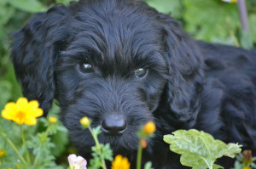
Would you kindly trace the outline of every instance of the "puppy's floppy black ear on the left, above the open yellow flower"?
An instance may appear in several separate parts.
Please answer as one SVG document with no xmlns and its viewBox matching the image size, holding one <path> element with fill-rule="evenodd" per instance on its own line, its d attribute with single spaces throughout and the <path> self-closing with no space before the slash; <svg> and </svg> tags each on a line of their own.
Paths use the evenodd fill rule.
<svg viewBox="0 0 256 169">
<path fill-rule="evenodd" d="M 68 14 L 64 6 L 55 6 L 45 13 L 36 14 L 14 34 L 11 59 L 22 93 L 38 100 L 44 115 L 55 96 L 55 63 L 68 36 L 61 20 Z"/>
</svg>

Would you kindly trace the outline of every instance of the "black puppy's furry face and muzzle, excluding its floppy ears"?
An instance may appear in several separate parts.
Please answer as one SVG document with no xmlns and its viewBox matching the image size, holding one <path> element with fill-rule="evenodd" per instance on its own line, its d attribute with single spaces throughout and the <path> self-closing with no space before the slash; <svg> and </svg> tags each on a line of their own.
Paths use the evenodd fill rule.
<svg viewBox="0 0 256 169">
<path fill-rule="evenodd" d="M 56 98 L 62 121 L 79 149 L 94 144 L 79 125 L 83 116 L 91 119 L 92 127 L 102 127 L 102 143 L 136 149 L 138 127 L 154 121 L 153 111 L 166 86 L 160 32 L 148 24 L 148 18 L 140 19 L 137 26 L 136 21 L 127 23 L 137 20 L 137 14 L 116 10 L 105 11 L 103 15 L 116 15 L 103 19 L 102 14 L 91 15 L 90 9 L 74 15 L 73 41 L 57 61 Z"/>
</svg>

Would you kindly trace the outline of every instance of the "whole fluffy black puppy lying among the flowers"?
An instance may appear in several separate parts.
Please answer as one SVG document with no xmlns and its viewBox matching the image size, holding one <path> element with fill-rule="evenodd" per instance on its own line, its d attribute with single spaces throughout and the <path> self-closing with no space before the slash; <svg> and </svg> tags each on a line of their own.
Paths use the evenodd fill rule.
<svg viewBox="0 0 256 169">
<path fill-rule="evenodd" d="M 203 130 L 256 153 L 256 52 L 197 42 L 146 3 L 82 0 L 35 14 L 15 33 L 11 58 L 28 99 L 45 114 L 59 101 L 86 158 L 94 141 L 81 130 L 85 115 L 102 127 L 100 142 L 132 165 L 137 129 L 147 121 L 157 131 L 143 161 L 157 169 L 182 168 L 162 140 L 177 129 Z"/>
</svg>

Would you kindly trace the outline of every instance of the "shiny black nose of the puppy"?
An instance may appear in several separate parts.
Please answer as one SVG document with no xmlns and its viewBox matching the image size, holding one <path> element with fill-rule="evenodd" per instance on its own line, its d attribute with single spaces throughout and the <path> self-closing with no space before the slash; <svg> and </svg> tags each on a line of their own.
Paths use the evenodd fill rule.
<svg viewBox="0 0 256 169">
<path fill-rule="evenodd" d="M 102 132 L 109 135 L 120 135 L 126 130 L 126 122 L 122 115 L 108 115 L 102 121 Z"/>
</svg>

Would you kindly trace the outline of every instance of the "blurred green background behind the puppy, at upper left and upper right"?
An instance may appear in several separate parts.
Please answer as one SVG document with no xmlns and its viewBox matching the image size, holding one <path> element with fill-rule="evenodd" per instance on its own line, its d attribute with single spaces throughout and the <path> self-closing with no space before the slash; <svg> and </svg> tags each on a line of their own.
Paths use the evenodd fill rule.
<svg viewBox="0 0 256 169">
<path fill-rule="evenodd" d="M 241 31 L 236 3 L 221 0 L 145 0 L 163 13 L 172 13 L 192 37 L 250 48 L 256 45 L 256 0 L 247 0 L 250 36 Z M 69 0 L 0 0 L 0 110 L 21 96 L 9 60 L 10 35 L 20 29 L 35 12 Z"/>
</svg>

